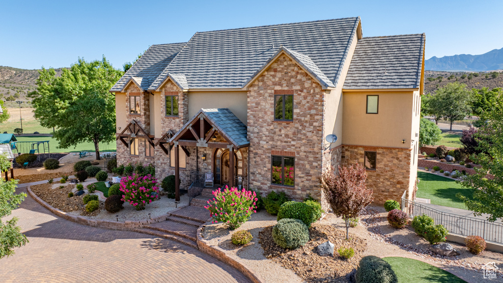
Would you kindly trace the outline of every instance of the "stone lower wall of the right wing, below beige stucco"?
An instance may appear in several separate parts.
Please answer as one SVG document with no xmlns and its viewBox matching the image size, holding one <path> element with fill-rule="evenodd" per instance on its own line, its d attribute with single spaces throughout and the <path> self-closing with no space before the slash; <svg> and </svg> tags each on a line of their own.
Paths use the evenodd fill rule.
<svg viewBox="0 0 503 283">
<path fill-rule="evenodd" d="M 401 200 L 404 191 L 410 198 L 415 195 L 415 178 L 410 179 L 410 149 L 344 146 L 342 150 L 342 165 L 363 164 L 365 151 L 377 152 L 375 170 L 367 170 L 367 187 L 374 190 L 374 203 L 382 204 L 388 199 Z M 409 188 L 414 191 L 409 192 Z"/>
</svg>

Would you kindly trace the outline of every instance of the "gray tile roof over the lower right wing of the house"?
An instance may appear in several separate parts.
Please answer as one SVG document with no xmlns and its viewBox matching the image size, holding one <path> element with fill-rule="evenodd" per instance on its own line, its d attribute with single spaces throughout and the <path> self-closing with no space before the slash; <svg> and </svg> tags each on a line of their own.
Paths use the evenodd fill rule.
<svg viewBox="0 0 503 283">
<path fill-rule="evenodd" d="M 425 34 L 360 39 L 343 88 L 419 88 L 424 45 Z"/>
</svg>

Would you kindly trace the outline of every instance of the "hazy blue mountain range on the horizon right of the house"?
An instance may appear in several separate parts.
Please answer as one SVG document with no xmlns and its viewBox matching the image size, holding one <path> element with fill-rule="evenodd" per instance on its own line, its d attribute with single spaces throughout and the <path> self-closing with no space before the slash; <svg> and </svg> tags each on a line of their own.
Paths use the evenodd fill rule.
<svg viewBox="0 0 503 283">
<path fill-rule="evenodd" d="M 494 49 L 480 55 L 460 54 L 454 56 L 436 56 L 425 60 L 425 69 L 443 71 L 483 72 L 503 69 L 503 48 Z"/>
</svg>

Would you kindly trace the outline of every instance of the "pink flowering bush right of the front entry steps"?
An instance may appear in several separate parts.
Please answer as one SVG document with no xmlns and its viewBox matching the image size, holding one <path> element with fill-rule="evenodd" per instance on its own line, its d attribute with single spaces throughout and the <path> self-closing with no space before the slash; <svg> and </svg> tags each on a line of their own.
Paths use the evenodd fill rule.
<svg viewBox="0 0 503 283">
<path fill-rule="evenodd" d="M 222 222 L 228 229 L 234 230 L 256 213 L 257 194 L 246 189 L 228 188 L 213 191 L 213 199 L 208 200 L 204 208 L 210 210 L 212 223 Z"/>
</svg>

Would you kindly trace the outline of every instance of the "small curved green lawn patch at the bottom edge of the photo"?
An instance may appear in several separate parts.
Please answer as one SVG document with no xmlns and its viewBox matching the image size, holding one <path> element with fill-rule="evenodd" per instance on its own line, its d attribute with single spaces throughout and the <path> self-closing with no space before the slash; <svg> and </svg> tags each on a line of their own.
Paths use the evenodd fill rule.
<svg viewBox="0 0 503 283">
<path fill-rule="evenodd" d="M 458 276 L 423 261 L 405 257 L 385 257 L 383 260 L 395 271 L 398 283 L 466 283 Z"/>
</svg>

